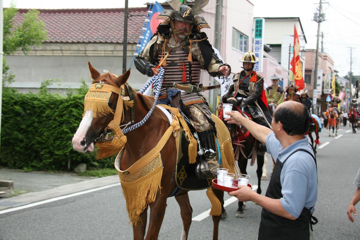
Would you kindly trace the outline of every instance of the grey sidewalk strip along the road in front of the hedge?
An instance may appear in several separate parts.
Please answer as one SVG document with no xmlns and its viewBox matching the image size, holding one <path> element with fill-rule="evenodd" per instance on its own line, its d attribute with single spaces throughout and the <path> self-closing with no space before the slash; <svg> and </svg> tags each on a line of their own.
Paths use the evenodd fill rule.
<svg viewBox="0 0 360 240">
<path fill-rule="evenodd" d="M 0 168 L 0 181 L 13 181 L 13 197 L 0 198 L 0 210 L 119 183 L 117 175 L 82 177 L 67 172 L 22 172 Z M 22 194 L 23 193 L 23 194 Z"/>
</svg>

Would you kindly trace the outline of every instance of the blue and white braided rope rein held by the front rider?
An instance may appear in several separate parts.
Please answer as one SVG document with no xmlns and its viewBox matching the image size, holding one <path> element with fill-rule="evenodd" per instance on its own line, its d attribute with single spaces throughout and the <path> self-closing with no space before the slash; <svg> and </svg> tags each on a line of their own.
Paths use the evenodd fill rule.
<svg viewBox="0 0 360 240">
<path fill-rule="evenodd" d="M 160 94 L 160 90 L 161 90 L 161 85 L 162 85 L 162 80 L 163 80 L 163 75 L 164 75 L 164 68 L 160 67 L 159 68 L 160 72 L 157 75 L 154 75 L 152 78 L 150 78 L 143 87 L 141 87 L 141 89 L 139 90 L 140 93 L 143 93 L 145 90 L 148 89 L 148 87 L 150 86 L 150 84 L 153 84 L 153 89 L 155 90 L 155 99 L 154 99 L 154 103 L 150 109 L 150 111 L 146 114 L 146 116 L 143 118 L 143 120 L 141 120 L 138 123 L 135 123 L 134 125 L 128 127 L 128 128 L 124 128 L 122 130 L 122 132 L 125 134 L 127 132 L 130 132 L 140 126 L 142 126 L 146 121 L 148 121 L 150 115 L 153 113 L 153 110 L 155 109 L 156 106 L 156 102 L 157 99 L 159 97 Z"/>
</svg>

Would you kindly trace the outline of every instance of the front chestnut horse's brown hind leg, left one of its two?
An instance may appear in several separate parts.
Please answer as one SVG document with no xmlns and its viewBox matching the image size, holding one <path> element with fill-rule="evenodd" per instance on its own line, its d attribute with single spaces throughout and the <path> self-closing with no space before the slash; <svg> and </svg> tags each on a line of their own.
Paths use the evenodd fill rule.
<svg viewBox="0 0 360 240">
<path fill-rule="evenodd" d="M 188 192 L 179 193 L 175 196 L 177 203 L 180 206 L 181 219 L 183 219 L 183 231 L 181 232 L 181 240 L 188 239 L 189 229 L 191 225 L 191 218 L 193 208 L 190 205 Z"/>
</svg>

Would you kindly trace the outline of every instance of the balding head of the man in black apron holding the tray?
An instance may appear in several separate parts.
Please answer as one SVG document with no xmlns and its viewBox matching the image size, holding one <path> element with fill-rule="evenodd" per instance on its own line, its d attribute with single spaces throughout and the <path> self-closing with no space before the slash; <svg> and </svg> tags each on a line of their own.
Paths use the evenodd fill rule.
<svg viewBox="0 0 360 240">
<path fill-rule="evenodd" d="M 296 101 L 285 101 L 276 107 L 274 121 L 283 124 L 284 131 L 291 136 L 304 135 L 309 128 L 306 107 Z"/>
</svg>

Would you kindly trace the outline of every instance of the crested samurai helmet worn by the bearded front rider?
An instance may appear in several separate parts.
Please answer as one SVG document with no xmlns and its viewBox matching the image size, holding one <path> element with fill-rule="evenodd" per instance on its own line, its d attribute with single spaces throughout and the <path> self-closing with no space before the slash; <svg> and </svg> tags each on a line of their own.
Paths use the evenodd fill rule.
<svg viewBox="0 0 360 240">
<path fill-rule="evenodd" d="M 192 8 L 186 2 L 193 3 Z M 190 23 L 195 25 L 200 31 L 201 28 L 210 28 L 208 23 L 203 17 L 196 16 L 204 12 L 202 8 L 207 5 L 209 0 L 185 0 L 184 3 L 181 0 L 172 0 L 168 4 L 174 10 L 164 9 L 158 15 L 156 19 L 164 19 L 165 21 L 161 22 L 160 25 L 167 25 L 170 21 L 180 21 Z"/>
</svg>

